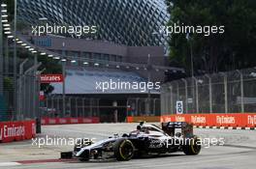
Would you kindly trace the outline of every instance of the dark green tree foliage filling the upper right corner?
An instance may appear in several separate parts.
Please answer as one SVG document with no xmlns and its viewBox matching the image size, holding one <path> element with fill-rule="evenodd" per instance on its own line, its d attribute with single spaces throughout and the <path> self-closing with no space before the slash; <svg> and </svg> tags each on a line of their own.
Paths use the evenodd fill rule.
<svg viewBox="0 0 256 169">
<path fill-rule="evenodd" d="M 170 59 L 176 66 L 207 73 L 243 69 L 256 65 L 255 0 L 166 0 L 171 15 L 168 25 L 224 25 L 224 34 L 173 34 Z"/>
</svg>

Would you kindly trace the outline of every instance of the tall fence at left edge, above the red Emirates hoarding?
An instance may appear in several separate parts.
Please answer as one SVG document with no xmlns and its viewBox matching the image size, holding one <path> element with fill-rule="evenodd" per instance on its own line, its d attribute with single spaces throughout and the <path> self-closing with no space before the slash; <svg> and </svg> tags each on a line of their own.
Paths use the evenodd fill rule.
<svg viewBox="0 0 256 169">
<path fill-rule="evenodd" d="M 23 121 L 39 117 L 38 75 L 27 70 L 16 75 L 1 73 L 0 122 Z"/>
</svg>

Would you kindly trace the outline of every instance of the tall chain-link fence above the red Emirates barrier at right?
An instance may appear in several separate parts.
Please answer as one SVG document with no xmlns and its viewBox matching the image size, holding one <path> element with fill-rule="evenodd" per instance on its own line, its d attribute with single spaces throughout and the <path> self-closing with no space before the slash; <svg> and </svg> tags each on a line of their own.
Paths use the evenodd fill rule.
<svg viewBox="0 0 256 169">
<path fill-rule="evenodd" d="M 256 69 L 234 70 L 172 81 L 162 86 L 161 113 L 242 113 L 256 111 Z"/>
</svg>

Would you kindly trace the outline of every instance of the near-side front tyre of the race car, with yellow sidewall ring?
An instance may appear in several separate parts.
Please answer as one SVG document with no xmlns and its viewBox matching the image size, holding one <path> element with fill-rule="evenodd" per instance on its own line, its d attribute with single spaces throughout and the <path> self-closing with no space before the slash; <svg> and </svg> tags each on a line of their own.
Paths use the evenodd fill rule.
<svg viewBox="0 0 256 169">
<path fill-rule="evenodd" d="M 113 153 L 118 161 L 130 160 L 134 156 L 134 145 L 127 139 L 118 140 L 114 143 Z"/>
</svg>

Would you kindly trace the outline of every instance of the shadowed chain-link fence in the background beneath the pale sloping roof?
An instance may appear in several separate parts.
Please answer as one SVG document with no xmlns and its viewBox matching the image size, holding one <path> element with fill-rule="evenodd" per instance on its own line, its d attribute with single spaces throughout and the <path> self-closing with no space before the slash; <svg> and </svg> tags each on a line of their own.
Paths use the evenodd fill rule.
<svg viewBox="0 0 256 169">
<path fill-rule="evenodd" d="M 63 111 L 63 100 L 65 100 L 65 111 Z M 116 105 L 113 102 L 116 102 Z M 41 117 L 48 118 L 99 117 L 101 122 L 114 122 L 115 111 L 118 112 L 117 119 L 119 122 L 124 122 L 127 116 L 159 116 L 160 99 L 114 99 L 111 96 L 109 99 L 104 99 L 104 97 L 95 98 L 82 95 L 66 95 L 63 99 L 63 95 L 48 95 L 40 101 Z"/>
</svg>

